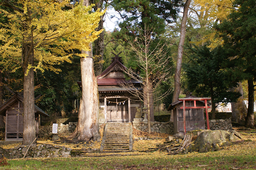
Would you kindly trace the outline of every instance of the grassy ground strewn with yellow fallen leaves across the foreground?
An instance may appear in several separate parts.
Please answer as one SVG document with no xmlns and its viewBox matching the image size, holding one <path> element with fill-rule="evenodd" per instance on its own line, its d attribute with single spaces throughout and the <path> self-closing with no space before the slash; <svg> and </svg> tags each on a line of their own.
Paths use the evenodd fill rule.
<svg viewBox="0 0 256 170">
<path fill-rule="evenodd" d="M 236 128 L 236 130 L 240 131 L 245 142 L 226 146 L 223 150 L 215 152 L 194 152 L 178 155 L 167 155 L 167 152 L 139 152 L 140 155 L 135 156 L 17 159 L 7 160 L 10 165 L 0 167 L 0 169 L 256 169 L 255 130 L 241 128 Z M 144 132 L 134 132 L 134 136 L 160 137 L 158 134 L 151 135 Z M 134 149 L 147 150 L 163 143 L 167 135 L 159 135 L 163 135 L 163 139 L 135 141 Z M 45 142 L 47 141 L 45 140 Z M 73 145 L 84 147 L 91 144 Z M 93 146 L 98 147 L 96 144 Z M 72 147 L 70 146 L 70 148 Z"/>
</svg>

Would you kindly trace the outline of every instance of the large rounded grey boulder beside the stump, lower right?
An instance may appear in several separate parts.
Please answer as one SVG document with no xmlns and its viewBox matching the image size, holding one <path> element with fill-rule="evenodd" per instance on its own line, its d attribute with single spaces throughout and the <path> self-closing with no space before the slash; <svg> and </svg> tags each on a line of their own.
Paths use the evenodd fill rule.
<svg viewBox="0 0 256 170">
<path fill-rule="evenodd" d="M 204 130 L 197 139 L 188 147 L 188 152 L 209 152 L 218 150 L 223 143 L 236 142 L 242 137 L 236 131 Z"/>
</svg>

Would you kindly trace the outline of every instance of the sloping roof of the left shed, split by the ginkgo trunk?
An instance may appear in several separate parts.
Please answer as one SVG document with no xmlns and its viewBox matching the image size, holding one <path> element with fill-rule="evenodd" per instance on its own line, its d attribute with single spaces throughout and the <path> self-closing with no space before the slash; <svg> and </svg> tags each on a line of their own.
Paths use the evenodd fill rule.
<svg viewBox="0 0 256 170">
<path fill-rule="evenodd" d="M 12 106 L 17 100 L 23 103 L 23 96 L 20 93 L 14 93 L 14 95 L 9 98 L 6 102 L 3 103 L 3 105 L 0 106 L 0 115 L 5 115 L 6 110 Z M 42 109 L 37 107 L 35 105 L 35 112 L 39 113 L 40 115 L 43 116 L 49 116 L 47 113 L 45 113 Z"/>
</svg>

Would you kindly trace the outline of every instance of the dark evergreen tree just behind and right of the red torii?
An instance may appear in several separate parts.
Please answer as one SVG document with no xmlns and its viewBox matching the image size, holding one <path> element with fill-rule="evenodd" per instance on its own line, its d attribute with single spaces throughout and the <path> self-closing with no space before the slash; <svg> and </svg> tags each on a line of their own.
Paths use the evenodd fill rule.
<svg viewBox="0 0 256 170">
<path fill-rule="evenodd" d="M 212 51 L 206 45 L 191 49 L 190 62 L 184 64 L 188 80 L 188 89 L 202 97 L 211 97 L 212 117 L 215 119 L 216 103 L 234 102 L 239 93 L 229 91 L 237 86 L 230 81 L 222 63 L 226 58 L 225 50 L 218 46 Z"/>
</svg>

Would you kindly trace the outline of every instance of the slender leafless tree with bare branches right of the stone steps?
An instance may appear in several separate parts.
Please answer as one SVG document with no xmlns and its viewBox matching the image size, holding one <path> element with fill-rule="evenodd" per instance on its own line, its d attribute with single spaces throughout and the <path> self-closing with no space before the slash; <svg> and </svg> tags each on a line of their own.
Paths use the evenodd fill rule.
<svg viewBox="0 0 256 170">
<path fill-rule="evenodd" d="M 161 92 L 160 85 L 167 79 L 171 69 L 171 67 L 169 67 L 170 57 L 167 56 L 168 51 L 165 48 L 167 43 L 159 41 L 154 49 L 149 48 L 152 47 L 152 33 L 154 33 L 152 29 L 143 30 L 134 41 L 130 41 L 126 37 L 131 49 L 135 53 L 135 61 L 140 71 L 137 72 L 129 68 L 125 70 L 125 73 L 130 78 L 141 82 L 141 86 L 138 87 L 132 83 L 119 82 L 120 86 L 125 88 L 132 95 L 140 98 L 140 100 L 144 102 L 144 107 L 147 107 L 149 133 L 151 133 L 150 106 L 170 94 L 170 90 L 161 95 L 157 93 Z M 152 98 L 154 102 L 150 102 Z"/>
</svg>

